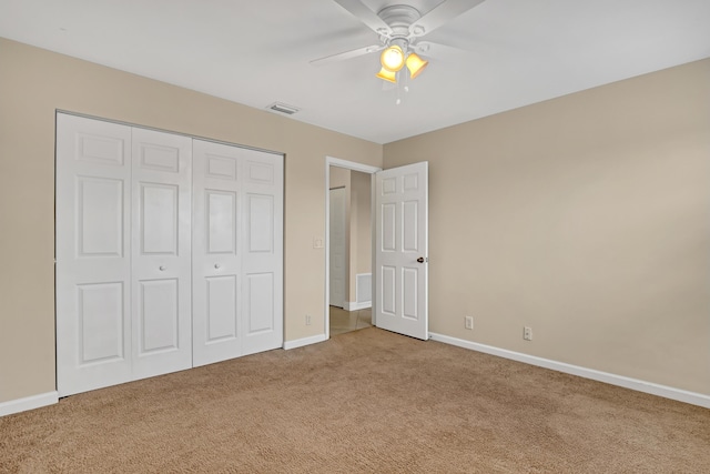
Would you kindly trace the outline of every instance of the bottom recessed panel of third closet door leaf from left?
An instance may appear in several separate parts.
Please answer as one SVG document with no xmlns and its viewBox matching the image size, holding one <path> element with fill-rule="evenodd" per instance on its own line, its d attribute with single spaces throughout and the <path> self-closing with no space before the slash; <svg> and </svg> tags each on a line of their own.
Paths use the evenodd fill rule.
<svg viewBox="0 0 710 474">
<path fill-rule="evenodd" d="M 235 339 L 237 335 L 237 278 L 212 276 L 207 283 L 207 344 Z"/>
</svg>

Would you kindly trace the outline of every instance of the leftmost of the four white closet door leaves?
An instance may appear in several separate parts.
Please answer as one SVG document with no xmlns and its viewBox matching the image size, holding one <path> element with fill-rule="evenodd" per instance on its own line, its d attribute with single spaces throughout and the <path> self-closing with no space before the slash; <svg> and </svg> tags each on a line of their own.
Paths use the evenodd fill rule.
<svg viewBox="0 0 710 474">
<path fill-rule="evenodd" d="M 131 128 L 57 115 L 60 396 L 131 374 Z"/>
</svg>

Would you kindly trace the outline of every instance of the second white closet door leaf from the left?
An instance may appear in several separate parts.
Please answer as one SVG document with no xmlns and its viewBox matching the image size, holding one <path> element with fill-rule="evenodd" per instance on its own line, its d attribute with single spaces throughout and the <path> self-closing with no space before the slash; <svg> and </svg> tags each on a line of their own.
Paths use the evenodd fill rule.
<svg viewBox="0 0 710 474">
<path fill-rule="evenodd" d="M 192 139 L 132 129 L 133 377 L 192 366 Z"/>
</svg>

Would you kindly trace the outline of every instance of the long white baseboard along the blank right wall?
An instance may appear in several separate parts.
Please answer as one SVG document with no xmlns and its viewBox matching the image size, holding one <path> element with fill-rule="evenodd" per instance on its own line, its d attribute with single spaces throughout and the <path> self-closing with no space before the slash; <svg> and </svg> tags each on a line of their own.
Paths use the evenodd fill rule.
<svg viewBox="0 0 710 474">
<path fill-rule="evenodd" d="M 605 382 L 611 385 L 622 386 L 625 389 L 636 390 L 638 392 L 649 393 L 679 402 L 690 403 L 692 405 L 710 409 L 710 396 L 701 393 L 688 392 L 672 386 L 659 385 L 638 379 L 630 379 L 622 375 L 610 374 L 608 372 L 586 369 L 579 365 L 571 365 L 565 362 L 551 361 L 549 359 L 537 357 L 535 355 L 523 354 L 520 352 L 508 351 L 506 349 L 494 347 L 491 345 L 479 344 L 476 342 L 465 341 L 444 334 L 429 333 L 429 337 L 434 341 L 446 344 L 456 345 L 471 351 L 484 352 L 486 354 L 497 355 L 513 361 L 524 362 L 539 367 L 551 369 L 554 371 L 564 372 L 566 374 L 577 375 L 585 379 L 591 379 L 598 382 Z"/>
</svg>

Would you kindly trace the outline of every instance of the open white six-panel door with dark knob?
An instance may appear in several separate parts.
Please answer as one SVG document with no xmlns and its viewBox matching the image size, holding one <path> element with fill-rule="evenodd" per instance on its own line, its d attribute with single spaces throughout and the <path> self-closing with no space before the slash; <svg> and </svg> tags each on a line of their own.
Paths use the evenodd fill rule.
<svg viewBox="0 0 710 474">
<path fill-rule="evenodd" d="M 375 177 L 375 321 L 427 340 L 428 163 Z"/>
</svg>

